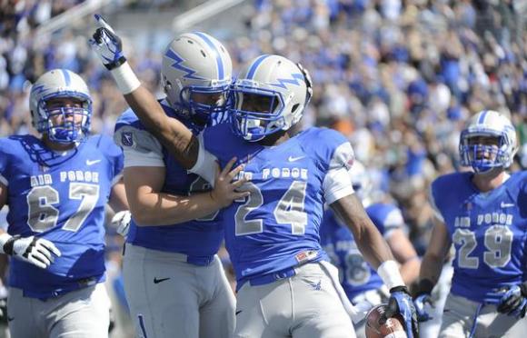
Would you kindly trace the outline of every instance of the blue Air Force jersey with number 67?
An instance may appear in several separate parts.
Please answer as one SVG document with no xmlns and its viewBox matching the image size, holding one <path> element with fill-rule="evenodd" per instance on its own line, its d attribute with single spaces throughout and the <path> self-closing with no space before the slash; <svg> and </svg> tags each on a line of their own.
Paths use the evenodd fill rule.
<svg viewBox="0 0 527 338">
<path fill-rule="evenodd" d="M 62 253 L 47 269 L 12 259 L 11 286 L 45 299 L 104 280 L 104 205 L 122 168 L 121 149 L 106 136 L 62 154 L 31 135 L 0 139 L 8 233 L 45 238 Z"/>
</svg>

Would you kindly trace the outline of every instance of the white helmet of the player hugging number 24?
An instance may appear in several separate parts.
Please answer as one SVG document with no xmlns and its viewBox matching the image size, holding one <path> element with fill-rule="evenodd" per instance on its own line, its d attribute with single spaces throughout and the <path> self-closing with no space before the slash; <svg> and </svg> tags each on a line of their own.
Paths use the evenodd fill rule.
<svg viewBox="0 0 527 338">
<path fill-rule="evenodd" d="M 224 45 L 201 32 L 179 35 L 166 46 L 161 81 L 166 99 L 197 124 L 207 124 L 213 114 L 228 108 L 233 63 Z M 220 94 L 214 104 L 200 104 L 193 94 Z"/>
</svg>

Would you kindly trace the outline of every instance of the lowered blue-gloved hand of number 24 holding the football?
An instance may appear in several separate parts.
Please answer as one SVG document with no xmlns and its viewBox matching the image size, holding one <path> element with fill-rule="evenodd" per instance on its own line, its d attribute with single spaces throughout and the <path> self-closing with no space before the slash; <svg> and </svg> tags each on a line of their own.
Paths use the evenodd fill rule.
<svg viewBox="0 0 527 338">
<path fill-rule="evenodd" d="M 396 286 L 390 290 L 390 293 L 388 307 L 381 319 L 381 323 L 395 314 L 401 314 L 404 320 L 404 330 L 408 338 L 418 338 L 419 324 L 417 323 L 417 313 L 408 289 L 406 289 L 406 286 Z"/>
</svg>

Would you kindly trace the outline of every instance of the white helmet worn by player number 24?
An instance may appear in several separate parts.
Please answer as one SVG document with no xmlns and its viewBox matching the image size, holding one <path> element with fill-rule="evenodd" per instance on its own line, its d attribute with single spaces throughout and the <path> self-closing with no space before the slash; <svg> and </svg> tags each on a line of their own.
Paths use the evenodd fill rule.
<svg viewBox="0 0 527 338">
<path fill-rule="evenodd" d="M 234 84 L 231 122 L 247 141 L 288 130 L 311 98 L 311 79 L 301 65 L 279 55 L 260 55 L 244 67 Z"/>
</svg>

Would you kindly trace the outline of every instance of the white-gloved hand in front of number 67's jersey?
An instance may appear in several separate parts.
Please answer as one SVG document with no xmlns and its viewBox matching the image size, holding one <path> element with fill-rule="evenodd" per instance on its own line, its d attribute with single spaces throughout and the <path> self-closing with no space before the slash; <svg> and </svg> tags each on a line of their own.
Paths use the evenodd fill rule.
<svg viewBox="0 0 527 338">
<path fill-rule="evenodd" d="M 60 257 L 61 255 L 55 244 L 35 236 L 12 236 L 5 242 L 3 250 L 5 254 L 42 269 L 51 265 L 55 261 L 55 256 Z"/>
</svg>

